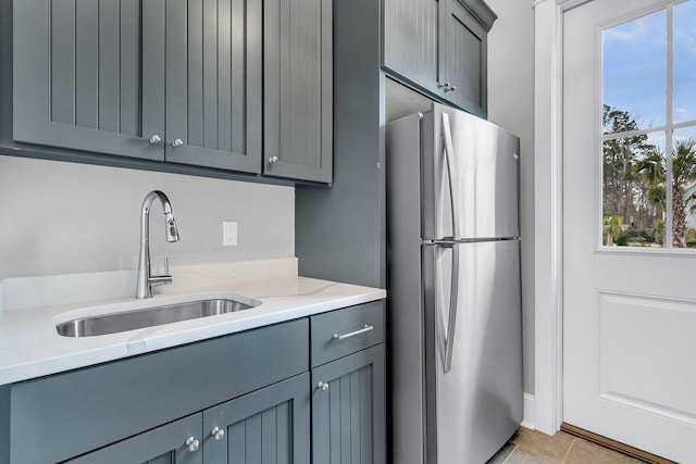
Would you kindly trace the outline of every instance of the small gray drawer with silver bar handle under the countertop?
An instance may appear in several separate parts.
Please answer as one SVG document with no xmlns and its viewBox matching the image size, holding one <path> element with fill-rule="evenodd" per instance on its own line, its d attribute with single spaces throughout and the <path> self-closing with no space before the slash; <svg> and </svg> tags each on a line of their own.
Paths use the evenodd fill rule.
<svg viewBox="0 0 696 464">
<path fill-rule="evenodd" d="M 350 306 L 310 318 L 312 367 L 384 341 L 384 302 Z"/>
</svg>

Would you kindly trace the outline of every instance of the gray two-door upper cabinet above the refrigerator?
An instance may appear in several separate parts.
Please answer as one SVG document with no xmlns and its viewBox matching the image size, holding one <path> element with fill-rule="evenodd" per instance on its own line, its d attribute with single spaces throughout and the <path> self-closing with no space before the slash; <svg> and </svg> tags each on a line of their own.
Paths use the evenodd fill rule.
<svg viewBox="0 0 696 464">
<path fill-rule="evenodd" d="M 482 0 L 384 0 L 383 65 L 485 116 L 486 34 L 496 17 Z"/>
</svg>

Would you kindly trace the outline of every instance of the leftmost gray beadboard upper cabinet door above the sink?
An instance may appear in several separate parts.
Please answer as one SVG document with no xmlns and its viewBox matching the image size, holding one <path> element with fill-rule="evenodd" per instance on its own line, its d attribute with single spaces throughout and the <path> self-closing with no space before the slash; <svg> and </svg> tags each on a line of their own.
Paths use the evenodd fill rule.
<svg viewBox="0 0 696 464">
<path fill-rule="evenodd" d="M 14 139 L 163 160 L 164 0 L 13 9 Z"/>
</svg>

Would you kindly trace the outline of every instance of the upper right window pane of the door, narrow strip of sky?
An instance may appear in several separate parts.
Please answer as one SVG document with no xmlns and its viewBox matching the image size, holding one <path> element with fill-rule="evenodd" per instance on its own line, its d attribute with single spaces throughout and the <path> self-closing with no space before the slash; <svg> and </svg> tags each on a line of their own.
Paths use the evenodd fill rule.
<svg viewBox="0 0 696 464">
<path fill-rule="evenodd" d="M 674 7 L 675 123 L 696 121 L 696 1 Z"/>
</svg>

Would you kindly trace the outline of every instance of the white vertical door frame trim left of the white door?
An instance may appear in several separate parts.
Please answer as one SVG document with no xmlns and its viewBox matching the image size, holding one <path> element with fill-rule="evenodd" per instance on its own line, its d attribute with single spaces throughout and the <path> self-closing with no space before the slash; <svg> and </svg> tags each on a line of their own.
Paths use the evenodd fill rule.
<svg viewBox="0 0 696 464">
<path fill-rule="evenodd" d="M 537 430 L 563 421 L 563 14 L 591 0 L 533 0 L 534 412 Z"/>
</svg>

